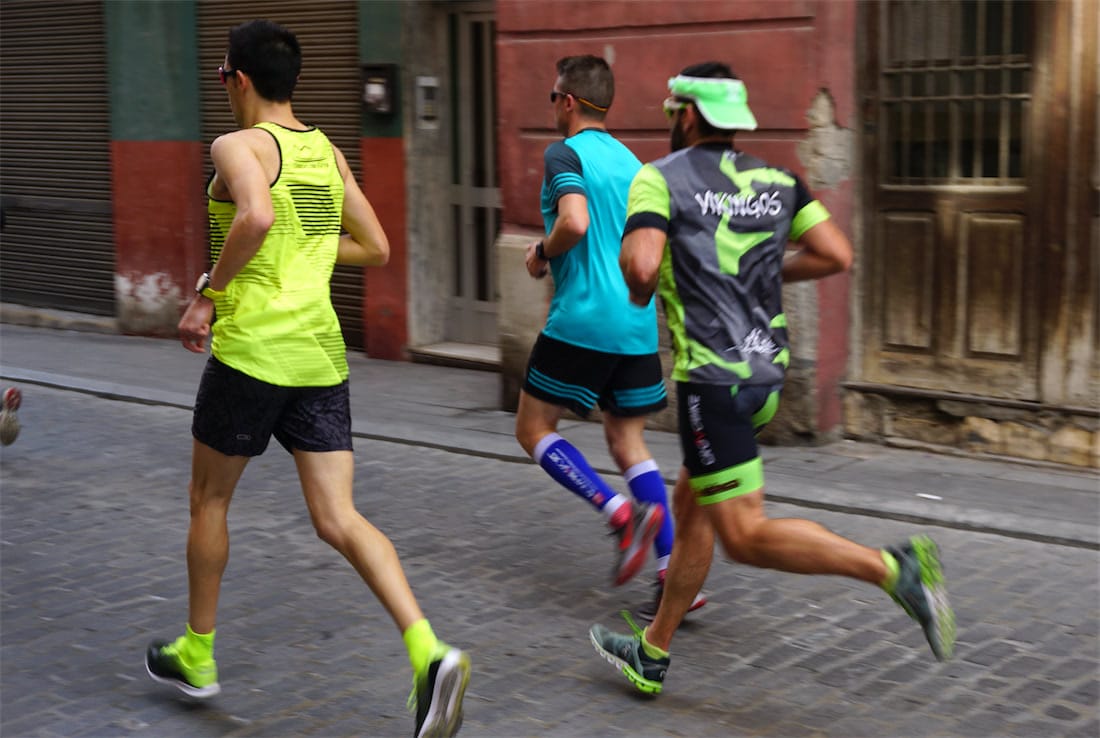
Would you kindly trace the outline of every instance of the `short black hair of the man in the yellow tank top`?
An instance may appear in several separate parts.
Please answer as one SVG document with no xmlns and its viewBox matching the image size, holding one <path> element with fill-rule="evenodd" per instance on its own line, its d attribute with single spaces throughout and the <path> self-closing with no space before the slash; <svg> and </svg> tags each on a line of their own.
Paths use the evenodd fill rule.
<svg viewBox="0 0 1100 738">
<path fill-rule="evenodd" d="M 248 21 L 229 32 L 229 66 L 249 75 L 265 100 L 286 102 L 301 74 L 301 46 L 289 30 L 267 20 Z"/>
</svg>

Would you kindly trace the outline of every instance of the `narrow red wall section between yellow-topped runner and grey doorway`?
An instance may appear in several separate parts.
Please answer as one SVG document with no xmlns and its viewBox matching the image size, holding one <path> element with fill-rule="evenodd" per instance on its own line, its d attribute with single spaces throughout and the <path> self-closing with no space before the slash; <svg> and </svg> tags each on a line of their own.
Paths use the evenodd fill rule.
<svg viewBox="0 0 1100 738">
<path fill-rule="evenodd" d="M 363 194 L 389 240 L 389 263 L 363 269 L 365 349 L 375 359 L 404 360 L 408 343 L 408 249 L 405 216 L 405 141 L 363 139 Z"/>
</svg>

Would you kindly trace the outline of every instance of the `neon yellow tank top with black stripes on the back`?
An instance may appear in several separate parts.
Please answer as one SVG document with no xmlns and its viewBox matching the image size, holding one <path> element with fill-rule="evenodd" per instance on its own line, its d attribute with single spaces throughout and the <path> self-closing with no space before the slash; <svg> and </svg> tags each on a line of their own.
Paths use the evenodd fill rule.
<svg viewBox="0 0 1100 738">
<path fill-rule="evenodd" d="M 348 356 L 329 280 L 340 242 L 343 179 L 328 137 L 257 123 L 279 148 L 272 183 L 275 223 L 256 255 L 215 300 L 218 361 L 282 387 L 329 387 L 348 378 Z M 217 261 L 237 206 L 207 188 L 210 258 Z"/>
</svg>

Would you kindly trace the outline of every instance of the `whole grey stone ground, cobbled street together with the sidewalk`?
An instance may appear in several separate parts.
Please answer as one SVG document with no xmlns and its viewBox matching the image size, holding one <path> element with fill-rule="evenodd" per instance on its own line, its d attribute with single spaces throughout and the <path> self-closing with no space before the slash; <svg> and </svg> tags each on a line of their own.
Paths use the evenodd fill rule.
<svg viewBox="0 0 1100 738">
<path fill-rule="evenodd" d="M 0 376 L 24 390 L 22 434 L 0 451 L 0 735 L 409 735 L 399 637 L 316 538 L 276 444 L 230 514 L 222 694 L 189 704 L 145 676 L 146 641 L 186 616 L 187 408 L 204 361 L 172 341 L 0 327 Z M 1094 474 L 766 450 L 773 515 L 875 546 L 936 538 L 957 657 L 937 664 L 872 587 L 716 562 L 711 604 L 647 700 L 586 636 L 647 582 L 607 585 L 598 517 L 522 458 L 493 409 L 496 377 L 353 357 L 352 378 L 358 506 L 437 631 L 474 659 L 463 736 L 1100 734 Z M 591 423 L 565 433 L 602 443 Z M 651 443 L 671 476 L 674 439 Z"/>
</svg>

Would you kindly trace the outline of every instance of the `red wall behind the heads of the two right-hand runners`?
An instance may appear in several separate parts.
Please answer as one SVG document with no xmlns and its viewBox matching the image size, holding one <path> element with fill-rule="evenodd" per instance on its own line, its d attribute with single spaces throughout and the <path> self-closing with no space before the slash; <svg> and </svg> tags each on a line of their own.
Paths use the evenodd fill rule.
<svg viewBox="0 0 1100 738">
<path fill-rule="evenodd" d="M 816 5 L 782 0 L 497 2 L 504 221 L 541 227 L 542 152 L 558 137 L 548 95 L 554 62 L 570 54 L 597 54 L 612 63 L 615 102 L 607 125 L 642 161 L 668 153 L 661 112 L 668 78 L 696 62 L 727 62 L 745 79 L 762 126 L 740 134 L 740 145 L 799 169 L 795 146 L 818 87 Z M 639 9 L 645 19 L 638 18 Z"/>
</svg>

